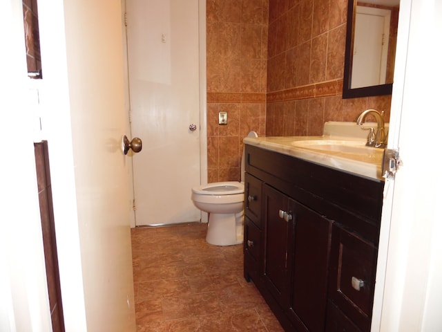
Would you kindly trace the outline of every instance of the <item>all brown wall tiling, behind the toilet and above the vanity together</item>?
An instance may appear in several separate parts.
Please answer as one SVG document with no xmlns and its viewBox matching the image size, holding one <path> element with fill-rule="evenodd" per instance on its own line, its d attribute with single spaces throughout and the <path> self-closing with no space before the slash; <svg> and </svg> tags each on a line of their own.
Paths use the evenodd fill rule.
<svg viewBox="0 0 442 332">
<path fill-rule="evenodd" d="M 209 182 L 240 179 L 250 130 L 320 135 L 369 108 L 390 118 L 391 95 L 342 98 L 347 1 L 207 0 Z"/>
</svg>

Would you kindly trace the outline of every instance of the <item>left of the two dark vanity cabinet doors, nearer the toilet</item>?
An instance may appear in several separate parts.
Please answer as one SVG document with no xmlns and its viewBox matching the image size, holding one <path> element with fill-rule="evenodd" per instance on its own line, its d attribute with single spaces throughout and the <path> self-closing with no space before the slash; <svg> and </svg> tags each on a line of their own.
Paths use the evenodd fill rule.
<svg viewBox="0 0 442 332">
<path fill-rule="evenodd" d="M 262 222 L 264 223 L 263 282 L 271 295 L 282 306 L 288 304 L 289 261 L 292 222 L 285 221 L 289 199 L 269 185 L 262 186 Z M 286 218 L 287 219 L 287 218 Z"/>
</svg>

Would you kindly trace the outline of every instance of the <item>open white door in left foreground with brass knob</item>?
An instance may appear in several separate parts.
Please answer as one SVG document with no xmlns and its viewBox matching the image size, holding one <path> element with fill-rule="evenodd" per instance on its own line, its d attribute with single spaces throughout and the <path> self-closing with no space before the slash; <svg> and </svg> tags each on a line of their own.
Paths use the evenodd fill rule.
<svg viewBox="0 0 442 332">
<path fill-rule="evenodd" d="M 38 11 L 66 331 L 135 331 L 121 3 L 39 0 Z"/>
</svg>

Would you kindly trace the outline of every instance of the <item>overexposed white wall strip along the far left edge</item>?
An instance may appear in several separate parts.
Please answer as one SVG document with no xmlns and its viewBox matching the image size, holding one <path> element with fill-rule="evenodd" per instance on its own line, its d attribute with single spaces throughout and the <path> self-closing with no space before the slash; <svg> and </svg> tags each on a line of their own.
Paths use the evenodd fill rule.
<svg viewBox="0 0 442 332">
<path fill-rule="evenodd" d="M 0 1 L 0 331 L 50 331 L 21 0 Z"/>
</svg>

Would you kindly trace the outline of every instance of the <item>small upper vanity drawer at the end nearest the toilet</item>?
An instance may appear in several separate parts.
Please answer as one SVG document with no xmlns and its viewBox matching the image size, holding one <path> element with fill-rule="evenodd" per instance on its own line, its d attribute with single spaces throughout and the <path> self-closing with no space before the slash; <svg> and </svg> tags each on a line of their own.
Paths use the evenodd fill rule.
<svg viewBox="0 0 442 332">
<path fill-rule="evenodd" d="M 258 228 L 261 228 L 261 187 L 258 178 L 246 173 L 244 175 L 244 213 Z"/>
</svg>

